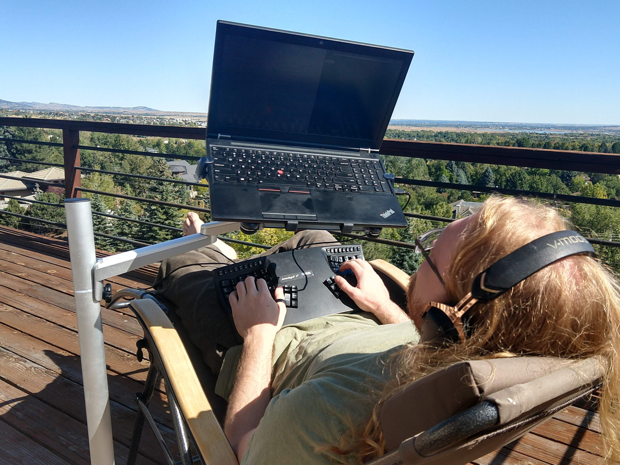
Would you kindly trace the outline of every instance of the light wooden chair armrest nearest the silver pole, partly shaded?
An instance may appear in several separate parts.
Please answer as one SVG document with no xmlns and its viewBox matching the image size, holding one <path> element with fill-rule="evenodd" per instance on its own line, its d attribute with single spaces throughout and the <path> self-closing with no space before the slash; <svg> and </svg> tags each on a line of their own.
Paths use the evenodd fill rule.
<svg viewBox="0 0 620 465">
<path fill-rule="evenodd" d="M 234 451 L 213 414 L 192 362 L 170 319 L 151 299 L 134 300 L 131 308 L 144 330 L 149 333 L 148 339 L 153 342 L 149 344 L 150 349 L 151 352 L 157 352 L 155 355 L 161 361 L 162 374 L 167 381 L 166 389 L 174 392 L 205 464 L 238 465 Z"/>
</svg>

